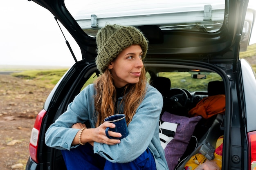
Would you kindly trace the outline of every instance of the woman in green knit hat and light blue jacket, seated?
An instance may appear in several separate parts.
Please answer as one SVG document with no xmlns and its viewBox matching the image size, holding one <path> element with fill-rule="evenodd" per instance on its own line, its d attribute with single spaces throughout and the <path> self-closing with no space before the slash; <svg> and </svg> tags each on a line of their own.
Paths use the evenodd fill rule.
<svg viewBox="0 0 256 170">
<path fill-rule="evenodd" d="M 135 27 L 106 25 L 96 36 L 96 64 L 102 73 L 46 132 L 47 146 L 62 150 L 68 170 L 166 170 L 159 140 L 162 95 L 147 83 L 142 59 L 148 42 Z M 129 135 L 109 139 L 104 122 L 124 113 Z M 85 121 L 90 121 L 86 128 Z M 120 133 L 109 131 L 112 137 Z"/>
</svg>

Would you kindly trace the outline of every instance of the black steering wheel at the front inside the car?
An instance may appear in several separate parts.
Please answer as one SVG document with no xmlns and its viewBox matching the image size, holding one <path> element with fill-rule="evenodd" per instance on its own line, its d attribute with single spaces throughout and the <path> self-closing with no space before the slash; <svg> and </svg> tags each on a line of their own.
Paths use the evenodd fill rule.
<svg viewBox="0 0 256 170">
<path fill-rule="evenodd" d="M 188 95 L 181 88 L 171 88 L 170 91 L 170 99 L 179 102 L 182 106 L 186 106 L 188 102 Z"/>
</svg>

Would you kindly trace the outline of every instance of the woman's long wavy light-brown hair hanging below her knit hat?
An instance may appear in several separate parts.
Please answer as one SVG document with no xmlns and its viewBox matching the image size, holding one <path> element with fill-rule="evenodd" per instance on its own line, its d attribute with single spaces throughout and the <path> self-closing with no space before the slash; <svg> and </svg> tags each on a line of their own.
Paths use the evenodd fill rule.
<svg viewBox="0 0 256 170">
<path fill-rule="evenodd" d="M 132 121 L 132 117 L 145 97 L 146 82 L 146 71 L 143 66 L 139 82 L 127 84 L 124 88 L 124 97 L 121 103 L 123 103 L 127 125 Z M 96 89 L 96 95 L 94 96 L 94 106 L 97 113 L 96 127 L 98 127 L 106 117 L 115 114 L 117 93 L 112 74 L 108 69 L 97 78 L 94 86 Z"/>
</svg>

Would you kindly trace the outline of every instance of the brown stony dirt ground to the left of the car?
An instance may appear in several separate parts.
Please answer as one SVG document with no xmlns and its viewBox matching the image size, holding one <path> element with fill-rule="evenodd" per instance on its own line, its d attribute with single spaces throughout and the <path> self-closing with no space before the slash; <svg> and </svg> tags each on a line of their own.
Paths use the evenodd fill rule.
<svg viewBox="0 0 256 170">
<path fill-rule="evenodd" d="M 25 170 L 31 129 L 50 91 L 0 74 L 0 170 Z"/>
</svg>

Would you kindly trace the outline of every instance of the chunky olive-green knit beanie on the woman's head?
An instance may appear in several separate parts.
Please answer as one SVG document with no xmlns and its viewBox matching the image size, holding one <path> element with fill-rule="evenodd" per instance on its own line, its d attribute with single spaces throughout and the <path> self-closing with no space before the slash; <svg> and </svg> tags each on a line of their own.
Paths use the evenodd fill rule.
<svg viewBox="0 0 256 170">
<path fill-rule="evenodd" d="M 133 26 L 106 25 L 97 33 L 96 42 L 98 55 L 95 61 L 101 73 L 117 55 L 133 44 L 141 46 L 142 59 L 145 58 L 148 50 L 148 41 L 143 33 Z"/>
</svg>

